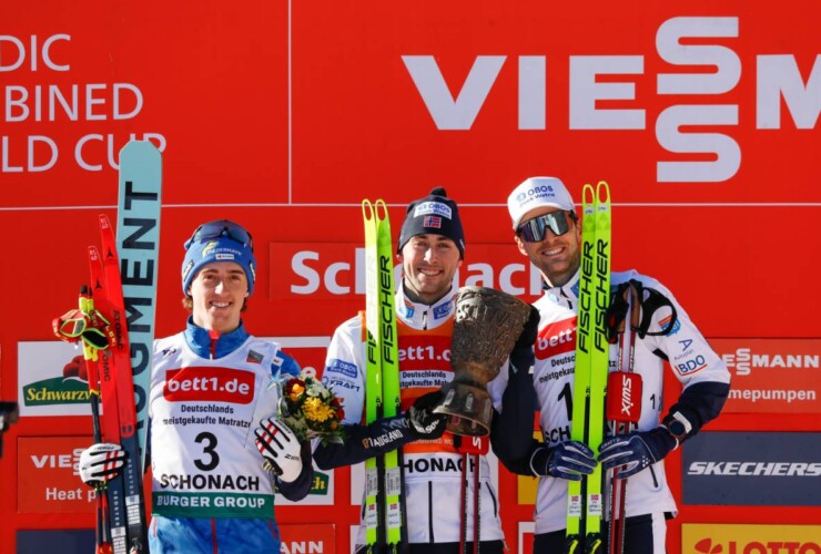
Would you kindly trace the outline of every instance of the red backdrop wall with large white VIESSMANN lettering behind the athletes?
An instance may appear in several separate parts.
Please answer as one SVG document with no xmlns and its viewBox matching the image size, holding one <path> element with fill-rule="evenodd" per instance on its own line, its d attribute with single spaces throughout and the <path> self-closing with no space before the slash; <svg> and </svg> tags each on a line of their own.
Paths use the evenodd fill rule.
<svg viewBox="0 0 821 554">
<path fill-rule="evenodd" d="M 396 229 L 407 202 L 436 185 L 462 207 L 462 281 L 493 273 L 483 284 L 527 288 L 524 265 L 505 277 L 525 258 L 504 204 L 524 178 L 556 175 L 577 201 L 584 183 L 610 183 L 614 268 L 660 279 L 708 338 L 795 339 L 820 353 L 805 342 L 821 337 L 817 1 L 0 6 L 4 400 L 23 402 L 32 371 L 18 343 L 50 341 L 51 318 L 75 301 L 95 215 L 114 217 L 115 153 L 132 135 L 163 150 L 158 336 L 185 317 L 183 240 L 225 217 L 257 245 L 249 328 L 320 365 L 323 340 L 363 307 L 359 202 L 384 198 Z M 818 393 L 818 367 L 808 371 Z M 45 460 L 29 441 L 90 435 L 89 418 L 55 410 L 24 414 L 3 437 L 3 550 L 18 530 L 93 526 L 88 511 L 21 510 L 24 466 L 32 452 Z M 820 430 L 817 404 L 798 411 L 749 404 L 709 429 Z M 680 499 L 680 453 L 667 465 Z M 334 524 L 347 552 L 348 473 L 333 476 L 335 510 L 287 505 L 277 519 Z M 517 552 L 533 506 L 511 475 L 499 481 Z M 669 552 L 681 550 L 682 522 L 821 521 L 818 507 L 680 507 Z"/>
</svg>

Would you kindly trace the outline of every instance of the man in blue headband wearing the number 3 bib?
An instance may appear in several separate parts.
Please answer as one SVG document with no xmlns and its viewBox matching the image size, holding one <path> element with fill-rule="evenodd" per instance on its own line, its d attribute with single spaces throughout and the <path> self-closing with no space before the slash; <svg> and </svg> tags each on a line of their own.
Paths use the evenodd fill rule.
<svg viewBox="0 0 821 554">
<path fill-rule="evenodd" d="M 274 488 L 295 501 L 313 480 L 310 443 L 274 417 L 277 381 L 300 368 L 243 326 L 256 271 L 251 235 L 235 223 L 211 222 L 185 250 L 183 305 L 191 317 L 184 331 L 154 342 L 149 546 L 152 553 L 280 552 Z M 83 452 L 84 482 L 119 471 L 101 463 L 111 461 L 112 448 L 119 445 Z"/>
</svg>

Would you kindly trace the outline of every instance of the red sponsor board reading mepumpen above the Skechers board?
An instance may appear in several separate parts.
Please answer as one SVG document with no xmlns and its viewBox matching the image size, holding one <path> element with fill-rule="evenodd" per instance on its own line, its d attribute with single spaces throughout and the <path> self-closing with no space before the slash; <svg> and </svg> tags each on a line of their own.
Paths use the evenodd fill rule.
<svg viewBox="0 0 821 554">
<path fill-rule="evenodd" d="M 710 339 L 732 372 L 723 413 L 821 413 L 821 339 Z"/>
</svg>

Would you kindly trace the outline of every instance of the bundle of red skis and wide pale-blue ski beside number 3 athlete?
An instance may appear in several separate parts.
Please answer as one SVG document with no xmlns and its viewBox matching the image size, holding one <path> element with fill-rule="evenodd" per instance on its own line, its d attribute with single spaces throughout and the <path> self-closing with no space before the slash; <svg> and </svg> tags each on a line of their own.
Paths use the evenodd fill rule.
<svg viewBox="0 0 821 554">
<path fill-rule="evenodd" d="M 125 452 L 122 473 L 98 486 L 99 554 L 138 554 L 149 550 L 142 468 L 161 188 L 160 152 L 149 142 L 128 143 L 120 152 L 118 236 L 108 216 L 100 215 L 102 252 L 95 246 L 88 249 L 91 288 L 83 287 L 80 309 L 89 318 L 102 316 L 112 332 L 109 348 L 83 347 L 92 392 L 93 440 L 118 443 Z"/>
</svg>

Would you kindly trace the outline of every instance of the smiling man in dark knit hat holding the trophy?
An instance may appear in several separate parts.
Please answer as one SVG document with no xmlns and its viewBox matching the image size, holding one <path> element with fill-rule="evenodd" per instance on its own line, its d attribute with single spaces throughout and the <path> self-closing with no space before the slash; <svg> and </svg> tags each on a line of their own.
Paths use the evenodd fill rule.
<svg viewBox="0 0 821 554">
<path fill-rule="evenodd" d="M 344 398 L 347 439 L 343 445 L 317 445 L 314 460 L 321 469 L 331 469 L 403 449 L 408 543 L 403 552 L 411 554 L 456 554 L 462 552 L 460 542 L 467 544 L 466 552 L 474 552 L 477 540 L 483 553 L 501 553 L 504 548 L 499 499 L 485 455 L 463 455 L 468 451 L 465 444 L 468 441 L 445 432 L 446 418 L 432 412 L 442 397 L 439 388 L 453 379 L 448 361 L 456 295 L 453 279 L 462 265 L 464 248 L 458 208 L 443 188 L 435 188 L 429 196 L 408 206 L 397 248 L 403 278 L 395 297 L 403 414 L 363 423 L 366 362 L 362 316 L 336 329 L 323 372 L 323 382 Z M 528 371 L 533 366 L 537 326 L 538 319 L 533 319 L 523 332 L 524 339 L 519 339 L 510 353 L 510 363 L 489 383 L 497 411 L 516 388 L 525 389 L 519 397 L 528 390 L 534 394 Z M 530 406 L 534 401 L 535 398 Z M 520 443 L 533 435 L 533 411 L 524 422 L 509 419 L 517 416 L 516 410 L 494 414 L 491 438 L 497 453 L 517 433 L 518 441 L 510 442 Z M 510 431 L 497 433 L 497 425 Z M 478 494 L 479 516 L 475 517 L 468 510 L 467 521 L 463 521 L 465 509 L 460 499 L 466 459 L 470 475 L 467 497 L 473 505 L 474 495 Z M 477 471 L 479 486 L 475 488 Z M 364 506 L 363 502 L 363 512 Z M 356 544 L 364 550 L 364 517 Z"/>
</svg>

